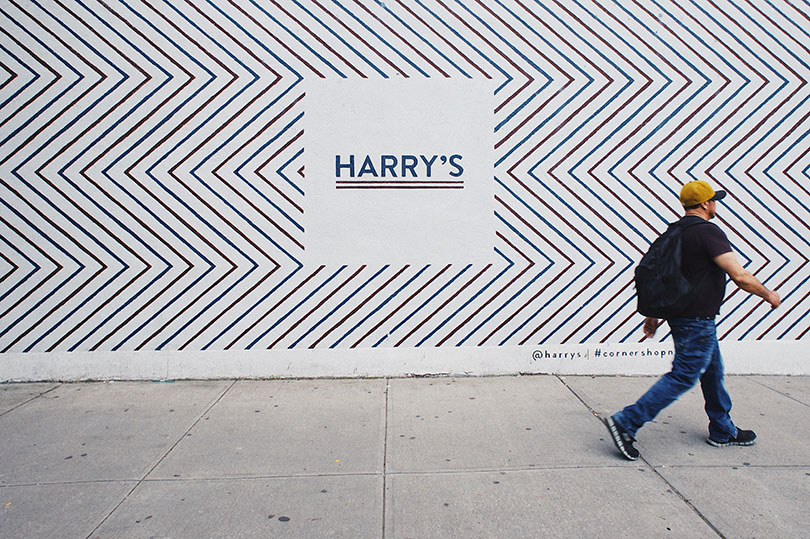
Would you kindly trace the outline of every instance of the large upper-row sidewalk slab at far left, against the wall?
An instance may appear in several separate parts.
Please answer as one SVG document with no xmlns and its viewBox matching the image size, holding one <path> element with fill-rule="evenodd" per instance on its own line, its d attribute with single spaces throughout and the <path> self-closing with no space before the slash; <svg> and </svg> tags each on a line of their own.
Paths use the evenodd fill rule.
<svg viewBox="0 0 810 539">
<path fill-rule="evenodd" d="M 0 416 L 0 485 L 140 479 L 230 384 L 60 386 Z"/>
</svg>

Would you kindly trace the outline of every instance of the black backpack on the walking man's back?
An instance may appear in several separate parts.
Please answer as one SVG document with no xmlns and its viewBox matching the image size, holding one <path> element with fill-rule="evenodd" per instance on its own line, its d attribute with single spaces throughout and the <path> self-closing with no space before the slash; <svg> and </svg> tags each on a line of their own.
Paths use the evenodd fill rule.
<svg viewBox="0 0 810 539">
<path fill-rule="evenodd" d="M 682 226 L 671 223 L 636 266 L 637 311 L 652 318 L 675 318 L 692 301 L 694 288 L 681 271 L 681 235 L 700 220 Z"/>
</svg>

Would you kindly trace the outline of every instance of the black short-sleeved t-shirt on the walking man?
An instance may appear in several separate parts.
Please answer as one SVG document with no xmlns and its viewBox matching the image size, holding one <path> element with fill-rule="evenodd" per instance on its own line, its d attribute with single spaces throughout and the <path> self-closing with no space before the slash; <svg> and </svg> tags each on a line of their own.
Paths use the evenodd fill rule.
<svg viewBox="0 0 810 539">
<path fill-rule="evenodd" d="M 687 215 L 680 222 L 692 225 L 683 231 L 681 269 L 697 287 L 694 300 L 681 316 L 716 316 L 726 295 L 726 272 L 713 258 L 731 252 L 731 244 L 720 227 L 696 215 Z"/>
</svg>

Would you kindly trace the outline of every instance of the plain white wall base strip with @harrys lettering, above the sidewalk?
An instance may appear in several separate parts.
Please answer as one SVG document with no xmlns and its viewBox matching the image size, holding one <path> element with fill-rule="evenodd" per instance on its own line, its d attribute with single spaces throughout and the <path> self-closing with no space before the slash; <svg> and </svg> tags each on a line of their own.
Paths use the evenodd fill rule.
<svg viewBox="0 0 810 539">
<path fill-rule="evenodd" d="M 803 342 L 724 342 L 728 374 L 810 374 Z M 367 378 L 503 374 L 656 375 L 671 343 L 0 355 L 5 382 L 218 378 Z"/>
</svg>

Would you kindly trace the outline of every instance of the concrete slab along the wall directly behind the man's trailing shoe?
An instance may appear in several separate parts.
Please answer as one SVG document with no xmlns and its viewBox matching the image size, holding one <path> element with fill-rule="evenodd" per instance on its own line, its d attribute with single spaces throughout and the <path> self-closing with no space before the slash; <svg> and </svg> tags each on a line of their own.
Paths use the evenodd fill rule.
<svg viewBox="0 0 810 539">
<path fill-rule="evenodd" d="M 391 380 L 392 472 L 622 465 L 556 377 Z"/>
</svg>

